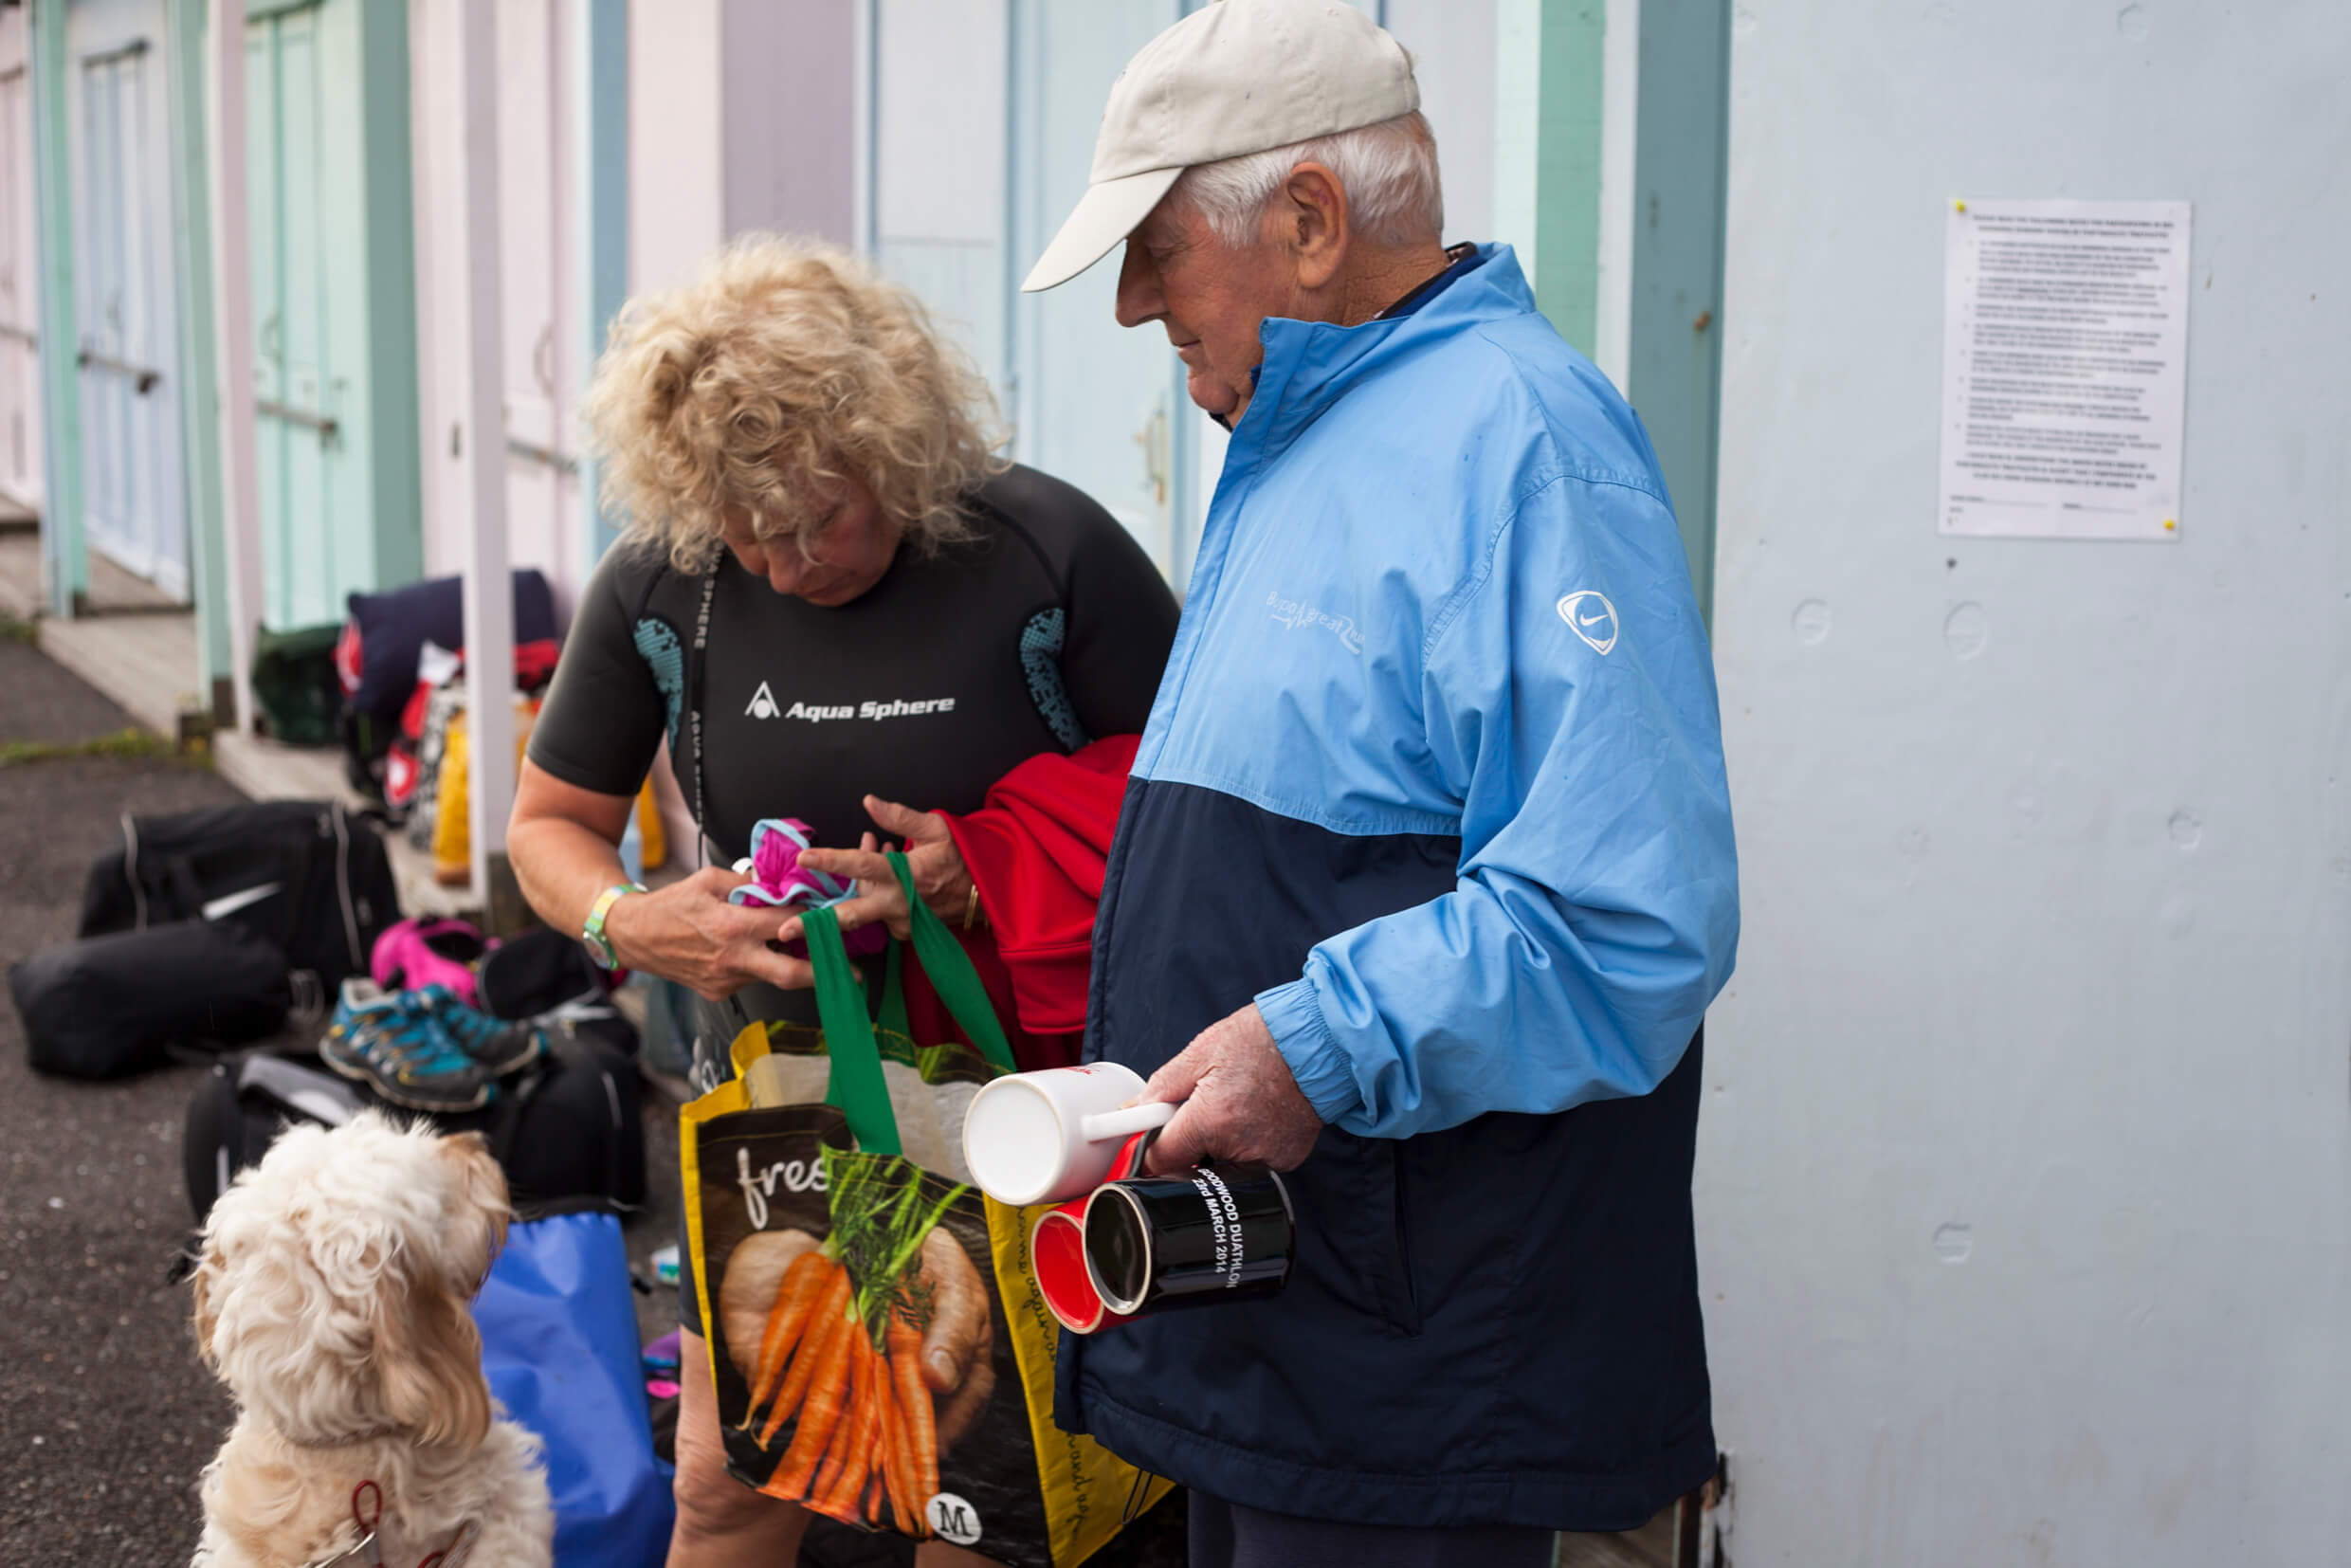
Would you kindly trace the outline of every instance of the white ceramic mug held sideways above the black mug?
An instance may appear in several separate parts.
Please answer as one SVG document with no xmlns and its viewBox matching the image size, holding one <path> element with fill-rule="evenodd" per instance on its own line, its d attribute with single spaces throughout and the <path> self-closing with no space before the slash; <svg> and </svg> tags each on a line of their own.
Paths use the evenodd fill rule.
<svg viewBox="0 0 2351 1568">
<path fill-rule="evenodd" d="M 1161 1100 L 1126 1105 L 1138 1093 L 1143 1079 L 1117 1063 L 990 1081 L 964 1112 L 971 1180 L 999 1204 L 1060 1204 L 1093 1192 L 1126 1138 L 1166 1126 L 1176 1114 Z"/>
</svg>

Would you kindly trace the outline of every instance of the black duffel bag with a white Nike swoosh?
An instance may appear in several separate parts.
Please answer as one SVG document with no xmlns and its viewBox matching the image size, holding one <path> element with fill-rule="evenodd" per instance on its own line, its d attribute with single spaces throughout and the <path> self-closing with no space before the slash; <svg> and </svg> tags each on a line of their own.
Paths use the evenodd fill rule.
<svg viewBox="0 0 2351 1568">
<path fill-rule="evenodd" d="M 169 816 L 125 816 L 122 849 L 82 884 L 80 936 L 181 919 L 235 922 L 277 943 L 331 994 L 367 973 L 376 936 L 400 919 L 376 830 L 341 802 L 273 799 Z"/>
</svg>

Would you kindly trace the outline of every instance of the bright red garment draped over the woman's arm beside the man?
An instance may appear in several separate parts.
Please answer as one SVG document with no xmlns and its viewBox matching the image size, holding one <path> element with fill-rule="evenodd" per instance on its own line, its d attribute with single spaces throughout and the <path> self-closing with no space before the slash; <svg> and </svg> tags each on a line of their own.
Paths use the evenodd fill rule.
<svg viewBox="0 0 2351 1568">
<path fill-rule="evenodd" d="M 987 914 L 985 926 L 957 936 L 1023 1070 L 1067 1067 L 1084 1044 L 1093 910 L 1140 743 L 1112 736 L 1067 757 L 1030 757 L 987 790 L 978 811 L 947 816 Z M 919 1039 L 957 1034 L 915 966 L 905 1006 Z"/>
</svg>

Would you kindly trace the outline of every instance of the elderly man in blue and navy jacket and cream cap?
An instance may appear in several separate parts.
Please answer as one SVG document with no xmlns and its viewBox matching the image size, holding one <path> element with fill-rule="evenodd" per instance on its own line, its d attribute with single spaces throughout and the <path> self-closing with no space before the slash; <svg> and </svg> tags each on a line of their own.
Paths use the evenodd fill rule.
<svg viewBox="0 0 2351 1568">
<path fill-rule="evenodd" d="M 1197 1563 L 1547 1563 L 1714 1465 L 1690 1234 L 1737 886 L 1641 423 L 1507 247 L 1444 249 L 1411 59 L 1220 0 L 1110 89 L 1030 289 L 1121 240 L 1232 428 L 1096 926 L 1159 1168 L 1295 1168 L 1262 1302 L 1063 1342 Z"/>
</svg>

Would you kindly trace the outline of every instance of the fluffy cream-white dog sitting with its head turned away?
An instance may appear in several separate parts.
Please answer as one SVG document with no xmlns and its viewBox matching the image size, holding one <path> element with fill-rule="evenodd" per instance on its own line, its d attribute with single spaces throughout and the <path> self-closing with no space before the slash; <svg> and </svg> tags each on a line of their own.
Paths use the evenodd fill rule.
<svg viewBox="0 0 2351 1568">
<path fill-rule="evenodd" d="M 552 1563 L 538 1441 L 491 1408 L 470 1312 L 505 1220 L 477 1135 L 374 1112 L 292 1128 L 221 1194 L 195 1338 L 237 1425 L 205 1469 L 197 1568 Z"/>
</svg>

